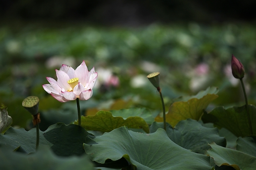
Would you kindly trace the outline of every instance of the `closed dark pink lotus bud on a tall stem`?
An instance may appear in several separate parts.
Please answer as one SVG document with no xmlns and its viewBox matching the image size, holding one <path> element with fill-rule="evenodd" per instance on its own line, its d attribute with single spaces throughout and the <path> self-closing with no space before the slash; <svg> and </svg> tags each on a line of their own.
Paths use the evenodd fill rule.
<svg viewBox="0 0 256 170">
<path fill-rule="evenodd" d="M 241 79 L 244 77 L 245 70 L 242 63 L 232 54 L 231 69 L 234 78 Z"/>
</svg>

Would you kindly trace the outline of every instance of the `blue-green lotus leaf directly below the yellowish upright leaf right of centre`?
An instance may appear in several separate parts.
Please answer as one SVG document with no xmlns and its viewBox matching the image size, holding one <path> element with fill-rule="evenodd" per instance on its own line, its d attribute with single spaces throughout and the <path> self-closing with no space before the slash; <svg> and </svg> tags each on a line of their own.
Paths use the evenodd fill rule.
<svg viewBox="0 0 256 170">
<path fill-rule="evenodd" d="M 163 123 L 154 122 L 150 126 L 150 132 L 162 128 Z M 193 152 L 204 154 L 210 148 L 208 143 L 226 146 L 224 137 L 220 137 L 218 128 L 207 128 L 196 120 L 181 120 L 174 128 L 170 124 L 166 126 L 167 136 L 177 145 L 190 149 Z"/>
</svg>

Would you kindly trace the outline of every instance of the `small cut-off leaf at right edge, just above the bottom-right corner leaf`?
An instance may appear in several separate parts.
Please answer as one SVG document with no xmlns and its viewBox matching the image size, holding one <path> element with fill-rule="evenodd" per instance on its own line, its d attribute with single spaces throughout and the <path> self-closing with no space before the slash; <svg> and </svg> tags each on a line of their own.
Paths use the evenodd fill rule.
<svg viewBox="0 0 256 170">
<path fill-rule="evenodd" d="M 236 141 L 236 150 L 256 157 L 256 136 L 239 137 Z"/>
</svg>

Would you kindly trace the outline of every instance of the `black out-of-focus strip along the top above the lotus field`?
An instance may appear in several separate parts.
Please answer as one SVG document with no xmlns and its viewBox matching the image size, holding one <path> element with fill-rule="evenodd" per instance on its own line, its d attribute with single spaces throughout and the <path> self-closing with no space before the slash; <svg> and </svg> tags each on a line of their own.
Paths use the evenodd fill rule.
<svg viewBox="0 0 256 170">
<path fill-rule="evenodd" d="M 84 21 L 140 26 L 153 22 L 255 22 L 255 0 L 0 0 L 2 21 Z"/>
</svg>

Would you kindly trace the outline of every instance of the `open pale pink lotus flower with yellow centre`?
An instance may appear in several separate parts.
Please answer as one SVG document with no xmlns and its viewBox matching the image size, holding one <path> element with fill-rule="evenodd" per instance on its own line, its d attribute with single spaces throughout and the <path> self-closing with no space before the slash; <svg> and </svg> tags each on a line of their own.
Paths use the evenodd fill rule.
<svg viewBox="0 0 256 170">
<path fill-rule="evenodd" d="M 92 96 L 92 88 L 96 83 L 98 73 L 94 67 L 89 72 L 85 62 L 75 70 L 63 64 L 60 70 L 55 70 L 57 81 L 51 77 L 46 77 L 50 84 L 44 84 L 43 89 L 60 102 L 70 100 L 88 100 Z"/>
</svg>

